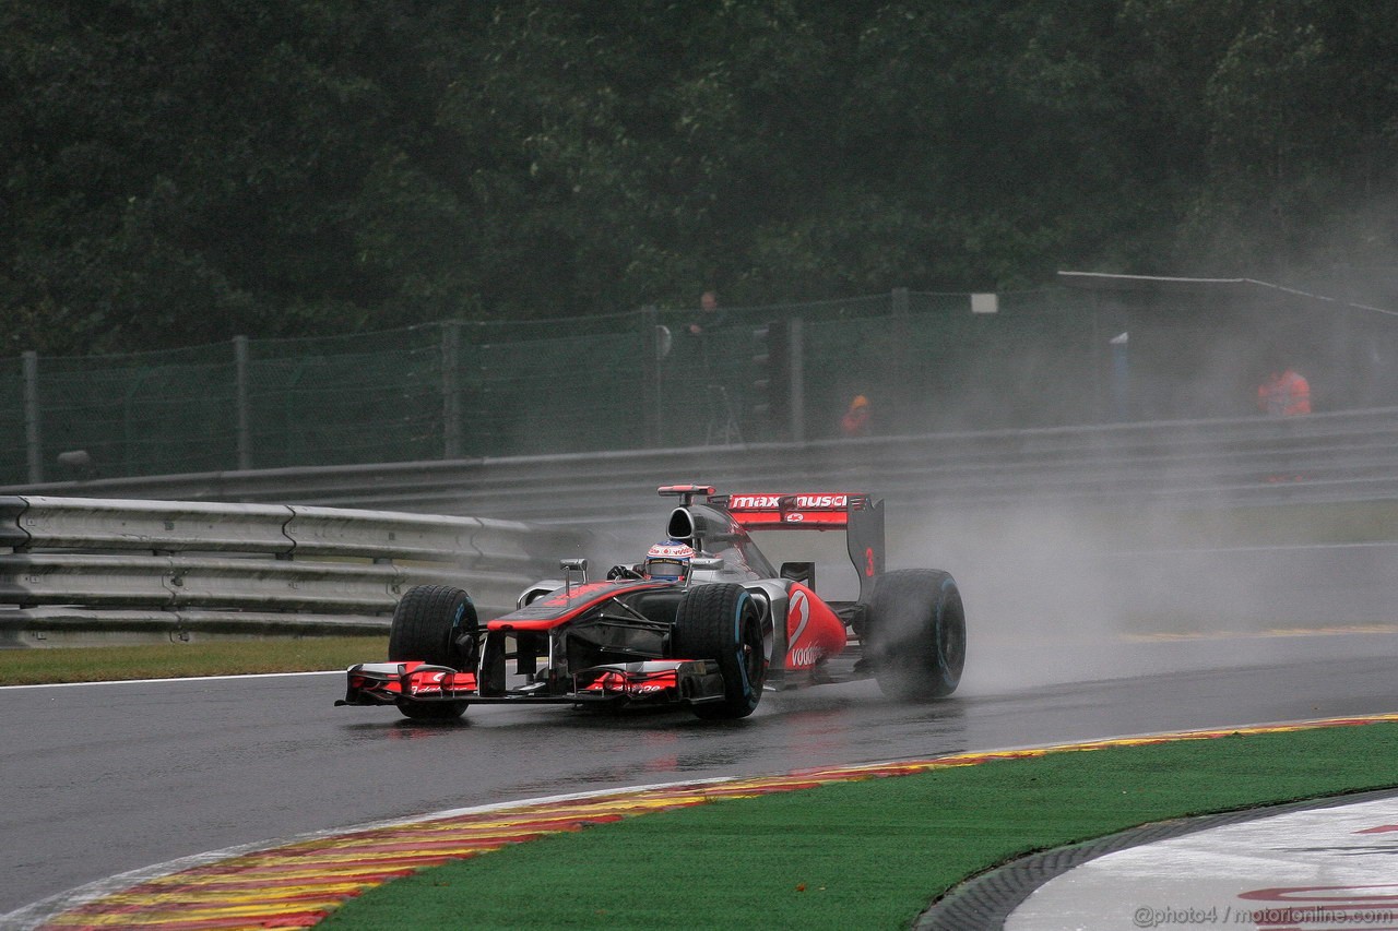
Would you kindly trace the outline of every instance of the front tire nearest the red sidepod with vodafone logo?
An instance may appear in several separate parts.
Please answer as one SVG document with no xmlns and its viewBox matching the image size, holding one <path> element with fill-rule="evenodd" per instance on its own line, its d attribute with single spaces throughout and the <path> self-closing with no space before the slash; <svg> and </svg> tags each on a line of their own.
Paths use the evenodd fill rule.
<svg viewBox="0 0 1398 931">
<path fill-rule="evenodd" d="M 740 584 L 695 586 L 675 614 L 674 656 L 716 660 L 723 674 L 723 700 L 691 706 L 698 717 L 747 717 L 762 700 L 768 658 L 762 644 L 762 612 Z"/>
</svg>

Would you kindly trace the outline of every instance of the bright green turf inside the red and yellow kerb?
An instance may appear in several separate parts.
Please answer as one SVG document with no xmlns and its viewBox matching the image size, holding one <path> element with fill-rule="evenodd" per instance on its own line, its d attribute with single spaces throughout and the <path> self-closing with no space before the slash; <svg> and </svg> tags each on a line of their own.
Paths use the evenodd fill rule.
<svg viewBox="0 0 1398 931">
<path fill-rule="evenodd" d="M 1050 753 L 551 836 L 390 882 L 320 927 L 905 928 L 965 876 L 1035 850 L 1390 786 L 1398 724 Z"/>
</svg>

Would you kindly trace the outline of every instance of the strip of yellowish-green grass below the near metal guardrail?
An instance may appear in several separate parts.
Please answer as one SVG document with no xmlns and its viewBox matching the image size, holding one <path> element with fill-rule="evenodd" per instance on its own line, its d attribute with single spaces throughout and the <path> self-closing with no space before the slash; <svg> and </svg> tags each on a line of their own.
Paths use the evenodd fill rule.
<svg viewBox="0 0 1398 931">
<path fill-rule="evenodd" d="M 316 672 L 345 670 L 387 654 L 387 636 L 0 650 L 0 685 Z"/>
</svg>

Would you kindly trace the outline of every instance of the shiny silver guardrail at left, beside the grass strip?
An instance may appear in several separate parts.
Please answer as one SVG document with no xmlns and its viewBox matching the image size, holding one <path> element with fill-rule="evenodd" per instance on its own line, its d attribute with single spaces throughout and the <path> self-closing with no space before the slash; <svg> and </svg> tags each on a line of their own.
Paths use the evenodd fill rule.
<svg viewBox="0 0 1398 931">
<path fill-rule="evenodd" d="M 429 583 L 499 612 L 586 537 L 315 506 L 0 498 L 0 646 L 383 632 L 401 593 Z"/>
</svg>

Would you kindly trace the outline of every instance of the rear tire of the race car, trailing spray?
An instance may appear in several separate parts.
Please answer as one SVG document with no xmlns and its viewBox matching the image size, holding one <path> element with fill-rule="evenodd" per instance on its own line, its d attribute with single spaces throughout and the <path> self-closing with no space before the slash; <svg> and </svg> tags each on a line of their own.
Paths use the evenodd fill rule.
<svg viewBox="0 0 1398 931">
<path fill-rule="evenodd" d="M 903 702 L 945 698 L 966 665 L 966 608 L 949 573 L 899 569 L 874 583 L 865 649 L 884 695 Z"/>
</svg>

